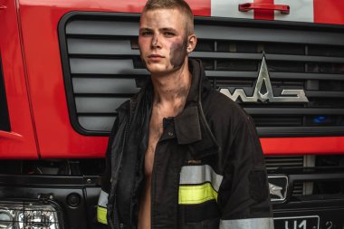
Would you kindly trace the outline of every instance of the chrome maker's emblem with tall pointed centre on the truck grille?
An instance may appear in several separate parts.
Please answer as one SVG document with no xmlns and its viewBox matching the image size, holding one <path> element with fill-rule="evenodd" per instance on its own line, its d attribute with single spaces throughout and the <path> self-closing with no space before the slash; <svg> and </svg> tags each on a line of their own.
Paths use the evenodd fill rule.
<svg viewBox="0 0 344 229">
<path fill-rule="evenodd" d="M 262 93 L 263 82 L 265 83 L 266 92 Z M 269 71 L 263 55 L 261 69 L 258 73 L 258 79 L 254 87 L 253 96 L 248 97 L 243 89 L 236 89 L 233 94 L 228 88 L 220 89 L 220 92 L 228 96 L 232 100 L 238 100 L 240 97 L 243 102 L 257 102 L 258 100 L 269 102 L 308 102 L 306 94 L 303 90 L 286 90 L 281 93 L 282 96 L 275 97 L 272 91 L 272 83 L 270 81 Z M 289 95 L 289 96 L 286 96 Z"/>
</svg>

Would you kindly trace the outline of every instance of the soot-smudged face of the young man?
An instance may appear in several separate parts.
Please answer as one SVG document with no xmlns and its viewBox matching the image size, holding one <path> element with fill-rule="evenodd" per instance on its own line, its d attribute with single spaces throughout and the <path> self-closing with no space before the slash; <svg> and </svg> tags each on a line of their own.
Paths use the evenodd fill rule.
<svg viewBox="0 0 344 229">
<path fill-rule="evenodd" d="M 149 72 L 174 72 L 186 62 L 185 20 L 177 9 L 149 10 L 141 15 L 139 50 Z"/>
</svg>

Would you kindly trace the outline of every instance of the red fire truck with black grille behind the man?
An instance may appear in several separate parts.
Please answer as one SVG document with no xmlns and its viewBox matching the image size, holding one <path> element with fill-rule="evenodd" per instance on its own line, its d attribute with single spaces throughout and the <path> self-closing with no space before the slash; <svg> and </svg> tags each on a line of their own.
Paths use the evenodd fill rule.
<svg viewBox="0 0 344 229">
<path fill-rule="evenodd" d="M 344 228 L 344 1 L 189 0 L 216 90 L 253 116 L 277 229 Z M 0 228 L 99 228 L 144 0 L 0 0 Z"/>
</svg>

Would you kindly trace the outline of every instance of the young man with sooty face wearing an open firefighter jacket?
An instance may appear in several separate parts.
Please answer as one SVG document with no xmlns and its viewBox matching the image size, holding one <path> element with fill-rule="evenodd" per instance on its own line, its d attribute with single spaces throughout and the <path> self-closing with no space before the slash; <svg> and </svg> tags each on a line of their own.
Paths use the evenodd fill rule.
<svg viewBox="0 0 344 229">
<path fill-rule="evenodd" d="M 253 122 L 211 90 L 188 59 L 195 47 L 183 0 L 148 1 L 139 50 L 151 76 L 118 109 L 102 180 L 98 219 L 110 228 L 273 227 Z"/>
</svg>

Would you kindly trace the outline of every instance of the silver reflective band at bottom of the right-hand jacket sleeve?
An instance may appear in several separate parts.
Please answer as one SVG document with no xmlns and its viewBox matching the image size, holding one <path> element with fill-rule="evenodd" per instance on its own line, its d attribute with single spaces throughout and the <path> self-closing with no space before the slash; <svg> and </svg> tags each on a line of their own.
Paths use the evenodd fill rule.
<svg viewBox="0 0 344 229">
<path fill-rule="evenodd" d="M 220 229 L 273 229 L 272 218 L 220 220 Z"/>
</svg>

